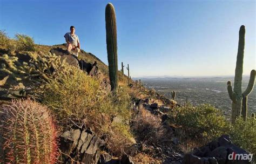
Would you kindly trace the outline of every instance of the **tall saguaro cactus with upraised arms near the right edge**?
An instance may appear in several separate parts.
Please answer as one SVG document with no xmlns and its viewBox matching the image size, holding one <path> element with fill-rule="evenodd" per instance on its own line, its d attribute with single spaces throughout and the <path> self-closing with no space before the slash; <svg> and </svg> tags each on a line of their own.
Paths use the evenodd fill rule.
<svg viewBox="0 0 256 164">
<path fill-rule="evenodd" d="M 244 63 L 245 48 L 245 26 L 242 25 L 239 30 L 239 43 L 237 53 L 237 64 L 235 66 L 234 88 L 232 89 L 231 81 L 227 82 L 227 91 L 232 100 L 231 122 L 234 124 L 235 119 L 242 116 L 244 120 L 247 117 L 247 96 L 252 92 L 255 81 L 255 70 L 251 71 L 248 86 L 242 92 L 242 70 Z"/>
</svg>

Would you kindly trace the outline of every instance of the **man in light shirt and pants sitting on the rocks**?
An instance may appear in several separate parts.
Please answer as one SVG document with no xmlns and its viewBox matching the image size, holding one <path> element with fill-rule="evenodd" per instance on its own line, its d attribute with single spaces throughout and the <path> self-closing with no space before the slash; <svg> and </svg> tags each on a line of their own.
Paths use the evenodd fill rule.
<svg viewBox="0 0 256 164">
<path fill-rule="evenodd" d="M 73 50 L 73 54 L 78 57 L 78 53 L 80 52 L 80 42 L 78 36 L 75 34 L 75 27 L 70 26 L 70 32 L 67 32 L 64 37 L 67 43 L 67 49 L 69 54 L 71 54 L 71 50 Z"/>
</svg>

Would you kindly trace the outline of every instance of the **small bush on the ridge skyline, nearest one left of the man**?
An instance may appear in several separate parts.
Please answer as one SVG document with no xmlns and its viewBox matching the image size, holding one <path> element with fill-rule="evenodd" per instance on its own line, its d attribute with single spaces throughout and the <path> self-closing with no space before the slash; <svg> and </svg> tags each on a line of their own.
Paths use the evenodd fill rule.
<svg viewBox="0 0 256 164">
<path fill-rule="evenodd" d="M 15 38 L 17 51 L 36 51 L 36 45 L 30 36 L 17 33 Z"/>
</svg>

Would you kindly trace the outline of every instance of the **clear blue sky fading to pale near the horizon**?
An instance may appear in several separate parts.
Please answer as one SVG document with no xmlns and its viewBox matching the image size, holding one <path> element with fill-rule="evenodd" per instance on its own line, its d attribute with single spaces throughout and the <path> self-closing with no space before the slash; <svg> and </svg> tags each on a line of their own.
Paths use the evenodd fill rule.
<svg viewBox="0 0 256 164">
<path fill-rule="evenodd" d="M 75 26 L 81 48 L 107 64 L 105 6 L 116 10 L 118 69 L 131 77 L 234 76 L 245 25 L 244 75 L 255 69 L 255 1 L 0 0 L 0 30 L 36 44 L 65 43 Z M 125 74 L 127 70 L 125 69 Z"/>
</svg>

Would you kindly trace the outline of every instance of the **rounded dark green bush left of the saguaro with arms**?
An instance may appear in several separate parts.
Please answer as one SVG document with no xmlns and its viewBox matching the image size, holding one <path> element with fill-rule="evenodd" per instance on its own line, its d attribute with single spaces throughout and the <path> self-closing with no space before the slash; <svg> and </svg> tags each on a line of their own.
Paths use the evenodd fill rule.
<svg viewBox="0 0 256 164">
<path fill-rule="evenodd" d="M 229 123 L 219 110 L 210 104 L 180 106 L 169 112 L 169 122 L 181 126 L 188 138 L 215 139 L 229 129 Z"/>
</svg>

